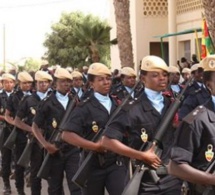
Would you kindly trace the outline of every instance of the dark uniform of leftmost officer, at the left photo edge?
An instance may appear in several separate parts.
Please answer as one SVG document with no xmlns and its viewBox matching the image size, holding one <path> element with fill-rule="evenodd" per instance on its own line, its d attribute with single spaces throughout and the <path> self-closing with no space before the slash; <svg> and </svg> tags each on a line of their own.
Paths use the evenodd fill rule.
<svg viewBox="0 0 215 195">
<path fill-rule="evenodd" d="M 0 93 L 0 114 L 4 115 L 5 113 L 5 108 L 7 105 L 7 100 L 8 100 L 8 95 L 7 93 L 3 90 Z M 13 126 L 8 124 L 6 121 L 1 121 L 0 122 L 3 131 L 4 131 L 4 136 L 3 136 L 3 143 L 7 140 L 9 137 Z M 10 174 L 11 174 L 11 161 L 12 161 L 12 151 L 8 148 L 2 147 L 1 149 L 1 154 L 2 154 L 2 179 L 4 182 L 5 187 L 10 188 Z"/>
</svg>

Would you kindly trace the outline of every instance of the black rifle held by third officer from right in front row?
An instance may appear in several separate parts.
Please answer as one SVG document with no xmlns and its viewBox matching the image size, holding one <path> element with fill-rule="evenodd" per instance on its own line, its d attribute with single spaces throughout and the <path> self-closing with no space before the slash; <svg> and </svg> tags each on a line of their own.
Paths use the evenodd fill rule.
<svg viewBox="0 0 215 195">
<path fill-rule="evenodd" d="M 98 132 L 95 134 L 93 139 L 91 140 L 92 142 L 97 142 L 102 134 L 104 133 L 104 129 L 112 122 L 112 120 L 116 117 L 116 115 L 119 113 L 119 111 L 123 108 L 124 105 L 130 100 L 131 94 L 134 92 L 134 89 L 138 86 L 139 81 L 135 84 L 135 86 L 132 88 L 132 90 L 129 92 L 129 94 L 124 98 L 122 103 L 117 107 L 117 109 L 114 111 L 114 113 L 111 115 L 109 120 L 107 121 L 105 127 L 101 127 Z M 79 186 L 80 188 L 86 187 L 86 182 L 87 178 L 90 174 L 90 167 L 92 163 L 94 152 L 90 151 L 86 158 L 83 160 L 81 163 L 80 167 L 78 168 L 77 172 L 72 178 L 72 181 Z"/>
</svg>

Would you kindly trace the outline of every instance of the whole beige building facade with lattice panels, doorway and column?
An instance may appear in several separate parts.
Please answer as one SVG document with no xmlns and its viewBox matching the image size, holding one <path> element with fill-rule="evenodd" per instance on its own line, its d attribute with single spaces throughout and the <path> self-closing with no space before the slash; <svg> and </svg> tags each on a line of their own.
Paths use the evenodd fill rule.
<svg viewBox="0 0 215 195">
<path fill-rule="evenodd" d="M 116 38 L 113 0 L 110 0 L 111 38 Z M 162 57 L 168 65 L 192 54 L 199 56 L 202 32 L 163 38 L 160 36 L 201 28 L 203 6 L 201 0 L 130 0 L 130 23 L 135 68 L 146 55 Z M 163 51 L 163 52 L 162 52 Z M 120 68 L 117 46 L 111 47 L 111 67 Z"/>
</svg>

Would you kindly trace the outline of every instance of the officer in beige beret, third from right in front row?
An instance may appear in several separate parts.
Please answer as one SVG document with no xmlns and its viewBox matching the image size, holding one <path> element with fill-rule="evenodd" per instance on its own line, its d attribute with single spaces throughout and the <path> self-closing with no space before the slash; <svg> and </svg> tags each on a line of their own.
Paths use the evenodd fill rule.
<svg viewBox="0 0 215 195">
<path fill-rule="evenodd" d="M 123 191 L 127 176 L 124 159 L 114 153 L 104 153 L 100 142 L 92 141 L 98 130 L 105 127 L 117 107 L 116 102 L 109 96 L 111 72 L 104 64 L 93 63 L 88 70 L 88 81 L 94 92 L 71 113 L 63 126 L 62 139 L 85 150 L 98 152 L 93 156 L 91 174 L 84 194 L 103 195 L 106 187 L 109 194 L 119 195 Z"/>
</svg>

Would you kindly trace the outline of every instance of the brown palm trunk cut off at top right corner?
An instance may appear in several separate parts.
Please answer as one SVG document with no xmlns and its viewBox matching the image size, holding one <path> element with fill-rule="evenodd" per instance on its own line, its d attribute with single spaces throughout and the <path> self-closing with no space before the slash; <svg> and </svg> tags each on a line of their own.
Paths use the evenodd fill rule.
<svg viewBox="0 0 215 195">
<path fill-rule="evenodd" d="M 213 45 L 215 46 L 215 1 L 211 0 L 202 0 L 203 7 L 205 10 L 205 18 L 207 21 L 209 33 L 213 42 Z"/>
</svg>

